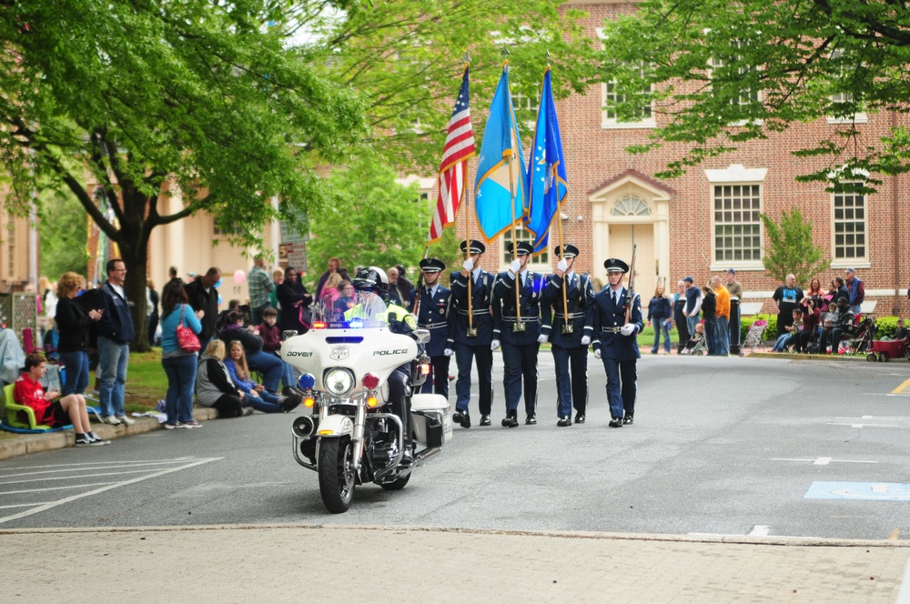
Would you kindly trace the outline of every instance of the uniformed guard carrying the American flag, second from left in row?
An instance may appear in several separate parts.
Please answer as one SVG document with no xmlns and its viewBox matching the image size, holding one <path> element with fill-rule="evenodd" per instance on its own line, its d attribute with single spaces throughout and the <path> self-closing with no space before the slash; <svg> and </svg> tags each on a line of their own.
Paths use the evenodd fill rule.
<svg viewBox="0 0 910 604">
<path fill-rule="evenodd" d="M 480 388 L 480 426 L 490 426 L 490 410 L 493 404 L 493 317 L 490 301 L 493 293 L 493 274 L 480 268 L 480 260 L 486 247 L 471 240 L 470 255 L 460 271 L 451 274 L 451 302 L 449 306 L 450 329 L 449 347 L 445 354 L 455 354 L 458 366 L 458 380 L 455 382 L 455 413 L 452 421 L 461 428 L 470 428 L 470 365 L 477 360 L 478 388 Z M 469 254 L 468 242 L 461 242 L 461 252 Z M 470 279 L 470 307 L 468 305 Z M 470 308 L 470 317 L 469 317 Z M 470 319 L 470 320 L 469 320 Z"/>
</svg>

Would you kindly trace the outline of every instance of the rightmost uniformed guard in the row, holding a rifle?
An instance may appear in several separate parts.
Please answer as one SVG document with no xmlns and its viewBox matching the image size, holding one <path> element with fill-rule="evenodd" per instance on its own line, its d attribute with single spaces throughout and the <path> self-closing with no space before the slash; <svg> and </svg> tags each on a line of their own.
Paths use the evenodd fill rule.
<svg viewBox="0 0 910 604">
<path fill-rule="evenodd" d="M 610 428 L 631 424 L 635 415 L 636 361 L 642 357 L 636 336 L 641 333 L 642 298 L 622 287 L 622 276 L 629 272 L 629 265 L 617 258 L 603 263 L 610 284 L 594 297 L 594 323 L 598 340 L 594 342 L 594 356 L 603 361 L 607 372 L 607 398 L 610 401 Z M 626 323 L 626 309 L 632 304 L 632 313 Z M 622 384 L 622 386 L 621 386 Z"/>
</svg>

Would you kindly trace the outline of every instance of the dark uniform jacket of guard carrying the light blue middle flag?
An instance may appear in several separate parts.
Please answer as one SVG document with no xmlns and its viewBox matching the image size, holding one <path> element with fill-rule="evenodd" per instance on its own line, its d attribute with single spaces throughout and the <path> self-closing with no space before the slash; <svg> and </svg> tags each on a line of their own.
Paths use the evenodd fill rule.
<svg viewBox="0 0 910 604">
<path fill-rule="evenodd" d="M 515 313 L 515 278 L 509 271 L 496 276 L 493 284 L 493 338 L 515 346 L 537 344 L 541 335 L 541 296 L 546 285 L 539 273 L 524 273 L 525 285 L 521 287 L 521 323 L 524 331 L 514 331 L 517 314 Z M 517 277 L 521 279 L 521 274 Z M 536 320 L 528 320 L 536 319 Z"/>
</svg>

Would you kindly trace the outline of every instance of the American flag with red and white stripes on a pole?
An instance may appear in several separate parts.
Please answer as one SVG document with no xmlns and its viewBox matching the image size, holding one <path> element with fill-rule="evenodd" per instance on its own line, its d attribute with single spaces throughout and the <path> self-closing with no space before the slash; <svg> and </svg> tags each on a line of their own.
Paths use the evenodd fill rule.
<svg viewBox="0 0 910 604">
<path fill-rule="evenodd" d="M 430 224 L 430 237 L 427 245 L 442 238 L 442 229 L 455 222 L 458 206 L 461 201 L 461 187 L 464 185 L 465 170 L 468 169 L 468 158 L 474 155 L 474 131 L 470 127 L 470 98 L 468 95 L 468 76 L 470 67 L 465 67 L 461 78 L 461 89 L 455 108 L 449 120 L 449 134 L 446 145 L 442 147 L 440 162 L 440 196 L 436 199 L 436 211 Z"/>
</svg>

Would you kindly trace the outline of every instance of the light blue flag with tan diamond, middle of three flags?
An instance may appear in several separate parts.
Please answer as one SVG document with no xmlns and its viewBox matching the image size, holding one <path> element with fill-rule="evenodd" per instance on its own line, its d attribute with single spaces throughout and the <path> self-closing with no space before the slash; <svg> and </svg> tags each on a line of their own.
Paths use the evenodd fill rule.
<svg viewBox="0 0 910 604">
<path fill-rule="evenodd" d="M 511 184 L 510 184 L 511 168 Z M 490 117 L 483 130 L 474 183 L 474 211 L 480 234 L 489 243 L 525 215 L 524 153 L 509 92 L 509 71 L 502 67 Z M 511 189 L 515 200 L 512 204 Z"/>
</svg>

